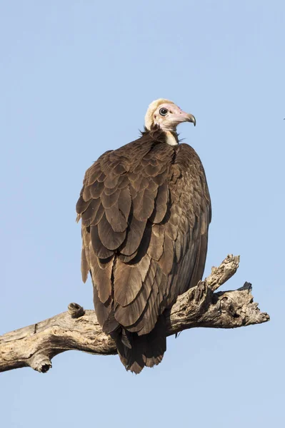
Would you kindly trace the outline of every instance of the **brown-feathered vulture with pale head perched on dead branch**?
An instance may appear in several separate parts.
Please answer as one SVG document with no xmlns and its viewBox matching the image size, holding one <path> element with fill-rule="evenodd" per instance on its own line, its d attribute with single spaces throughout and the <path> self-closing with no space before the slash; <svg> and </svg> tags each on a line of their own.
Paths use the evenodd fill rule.
<svg viewBox="0 0 285 428">
<path fill-rule="evenodd" d="M 144 131 L 86 170 L 79 200 L 81 273 L 90 272 L 102 330 L 126 370 L 158 365 L 166 311 L 204 272 L 211 201 L 203 165 L 176 126 L 196 125 L 172 101 L 153 101 Z"/>
</svg>

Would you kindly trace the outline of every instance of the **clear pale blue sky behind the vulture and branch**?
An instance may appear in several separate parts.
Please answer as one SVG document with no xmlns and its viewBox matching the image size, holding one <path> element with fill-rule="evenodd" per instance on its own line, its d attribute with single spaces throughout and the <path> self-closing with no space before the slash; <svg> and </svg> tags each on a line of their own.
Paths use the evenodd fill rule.
<svg viewBox="0 0 285 428">
<path fill-rule="evenodd" d="M 75 204 L 101 153 L 139 136 L 151 101 L 196 116 L 179 132 L 213 204 L 205 275 L 253 283 L 271 321 L 196 329 L 135 376 L 65 352 L 47 374 L 0 375 L 1 427 L 281 427 L 284 421 L 284 1 L 0 2 L 0 334 L 92 307 Z"/>
</svg>

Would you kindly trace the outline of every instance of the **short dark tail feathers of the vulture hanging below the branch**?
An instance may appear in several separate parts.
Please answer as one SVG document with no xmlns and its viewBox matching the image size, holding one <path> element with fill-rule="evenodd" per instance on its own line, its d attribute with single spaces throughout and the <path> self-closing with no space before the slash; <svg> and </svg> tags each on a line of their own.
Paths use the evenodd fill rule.
<svg viewBox="0 0 285 428">
<path fill-rule="evenodd" d="M 166 325 L 164 315 L 160 315 L 154 330 L 147 335 L 139 336 L 121 327 L 111 333 L 116 342 L 121 362 L 136 374 L 144 367 L 158 365 L 166 351 Z"/>
</svg>

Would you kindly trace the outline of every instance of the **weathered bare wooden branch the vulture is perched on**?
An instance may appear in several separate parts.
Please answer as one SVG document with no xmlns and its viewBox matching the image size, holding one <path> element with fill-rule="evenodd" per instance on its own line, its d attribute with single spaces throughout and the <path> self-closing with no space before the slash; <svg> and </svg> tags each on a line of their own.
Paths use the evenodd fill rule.
<svg viewBox="0 0 285 428">
<path fill-rule="evenodd" d="M 166 316 L 168 335 L 193 327 L 234 328 L 269 321 L 254 303 L 249 282 L 239 290 L 214 292 L 238 267 L 239 256 L 228 255 L 206 280 L 179 296 Z M 47 372 L 51 359 L 68 350 L 116 354 L 114 341 L 102 332 L 94 310 L 71 303 L 67 312 L 1 336 L 0 372 L 19 367 Z"/>
</svg>

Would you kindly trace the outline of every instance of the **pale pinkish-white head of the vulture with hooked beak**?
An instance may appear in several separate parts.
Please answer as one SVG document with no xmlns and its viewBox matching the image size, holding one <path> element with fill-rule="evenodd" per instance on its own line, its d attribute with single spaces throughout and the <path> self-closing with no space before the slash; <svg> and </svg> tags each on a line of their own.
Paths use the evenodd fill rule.
<svg viewBox="0 0 285 428">
<path fill-rule="evenodd" d="M 196 125 L 193 114 L 185 113 L 172 101 L 159 98 L 152 101 L 146 111 L 145 126 L 150 130 L 154 126 L 159 126 L 163 131 L 176 131 L 176 126 L 182 122 L 192 122 Z"/>
</svg>

